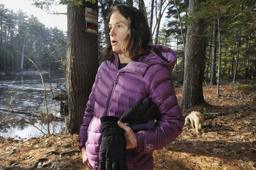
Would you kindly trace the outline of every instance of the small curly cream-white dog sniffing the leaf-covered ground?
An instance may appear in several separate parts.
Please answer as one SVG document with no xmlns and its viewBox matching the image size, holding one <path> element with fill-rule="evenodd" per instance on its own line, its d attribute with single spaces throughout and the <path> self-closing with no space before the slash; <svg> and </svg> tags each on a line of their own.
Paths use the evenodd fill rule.
<svg viewBox="0 0 256 170">
<path fill-rule="evenodd" d="M 200 112 L 193 111 L 185 118 L 185 124 L 189 124 L 189 122 L 191 122 L 192 128 L 196 128 L 196 133 L 198 133 L 202 129 L 204 117 Z"/>
</svg>

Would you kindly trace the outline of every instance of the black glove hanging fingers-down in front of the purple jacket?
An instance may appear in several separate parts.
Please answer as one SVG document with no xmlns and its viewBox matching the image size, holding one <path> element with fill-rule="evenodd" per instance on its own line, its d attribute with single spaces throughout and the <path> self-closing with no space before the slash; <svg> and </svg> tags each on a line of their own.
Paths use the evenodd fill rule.
<svg viewBox="0 0 256 170">
<path fill-rule="evenodd" d="M 126 170 L 126 138 L 117 125 L 118 117 L 100 118 L 103 138 L 100 146 L 100 170 Z"/>
</svg>

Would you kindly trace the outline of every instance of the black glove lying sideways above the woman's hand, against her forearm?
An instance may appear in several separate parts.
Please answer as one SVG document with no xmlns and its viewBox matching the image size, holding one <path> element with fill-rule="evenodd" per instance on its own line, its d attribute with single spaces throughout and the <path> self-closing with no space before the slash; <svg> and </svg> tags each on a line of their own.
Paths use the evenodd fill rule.
<svg viewBox="0 0 256 170">
<path fill-rule="evenodd" d="M 129 122 L 130 125 L 144 124 L 150 119 L 154 120 L 156 114 L 154 104 L 151 100 L 142 102 L 143 99 L 136 101 L 134 105 L 120 116 L 119 120 L 123 123 Z"/>
</svg>

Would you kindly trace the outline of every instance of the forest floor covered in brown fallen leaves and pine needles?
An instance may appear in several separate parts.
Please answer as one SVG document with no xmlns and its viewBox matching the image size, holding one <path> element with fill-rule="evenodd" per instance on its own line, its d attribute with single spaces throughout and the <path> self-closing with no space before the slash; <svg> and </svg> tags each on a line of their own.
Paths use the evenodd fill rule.
<svg viewBox="0 0 256 170">
<path fill-rule="evenodd" d="M 256 81 L 237 82 L 221 81 L 220 97 L 216 85 L 204 84 L 208 104 L 182 110 L 184 116 L 191 111 L 204 114 L 201 132 L 185 125 L 174 142 L 154 151 L 155 170 L 256 170 Z M 180 103 L 182 85 L 175 91 Z M 0 169 L 88 169 L 78 151 L 78 135 L 0 138 L 0 153 Z"/>
</svg>

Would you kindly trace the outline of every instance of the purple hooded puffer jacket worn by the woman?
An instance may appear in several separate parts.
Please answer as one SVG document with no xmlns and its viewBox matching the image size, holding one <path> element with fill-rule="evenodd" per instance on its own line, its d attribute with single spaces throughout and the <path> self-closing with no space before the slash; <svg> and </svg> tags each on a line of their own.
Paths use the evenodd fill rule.
<svg viewBox="0 0 256 170">
<path fill-rule="evenodd" d="M 134 60 L 120 70 L 118 54 L 114 54 L 113 61 L 104 61 L 98 69 L 86 104 L 79 148 L 86 146 L 89 162 L 98 170 L 103 137 L 100 117 L 120 117 L 140 98 L 149 99 L 157 107 L 155 130 L 135 133 L 137 148 L 126 150 L 126 156 L 128 169 L 153 169 L 153 151 L 171 143 L 184 125 L 171 77 L 177 53 L 171 48 L 155 46 L 151 55 Z"/>
</svg>

